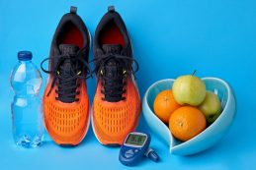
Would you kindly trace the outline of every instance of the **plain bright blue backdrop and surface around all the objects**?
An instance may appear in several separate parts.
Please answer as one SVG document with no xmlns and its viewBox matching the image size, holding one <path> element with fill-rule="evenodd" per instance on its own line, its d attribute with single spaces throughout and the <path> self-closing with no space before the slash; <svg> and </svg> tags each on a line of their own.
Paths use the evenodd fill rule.
<svg viewBox="0 0 256 170">
<path fill-rule="evenodd" d="M 11 134 L 13 92 L 9 84 L 17 52 L 28 49 L 40 66 L 47 57 L 58 21 L 78 7 L 92 35 L 108 5 L 123 16 L 139 63 L 137 84 L 143 96 L 155 81 L 191 74 L 228 82 L 237 98 L 237 116 L 228 134 L 211 149 L 176 156 L 152 134 L 159 163 L 144 160 L 134 169 L 256 168 L 256 1 L 254 0 L 98 0 L 0 1 L 0 169 L 129 169 L 119 148 L 97 142 L 92 130 L 77 147 L 62 148 L 45 138 L 37 149 L 18 148 Z M 92 55 L 90 55 L 92 58 Z M 43 74 L 43 88 L 45 86 Z M 88 80 L 92 99 L 95 80 Z M 42 92 L 43 92 L 42 88 Z M 143 119 L 139 130 L 148 131 Z"/>
</svg>

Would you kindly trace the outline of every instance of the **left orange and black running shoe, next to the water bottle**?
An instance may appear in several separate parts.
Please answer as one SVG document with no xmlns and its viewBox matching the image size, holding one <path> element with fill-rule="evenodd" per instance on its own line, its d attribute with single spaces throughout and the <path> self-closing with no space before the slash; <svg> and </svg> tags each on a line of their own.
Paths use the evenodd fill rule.
<svg viewBox="0 0 256 170">
<path fill-rule="evenodd" d="M 89 99 L 85 79 L 90 46 L 89 31 L 71 7 L 55 30 L 49 58 L 42 62 L 49 74 L 43 94 L 44 126 L 60 145 L 77 145 L 89 127 Z M 48 71 L 43 63 L 49 61 Z"/>
</svg>

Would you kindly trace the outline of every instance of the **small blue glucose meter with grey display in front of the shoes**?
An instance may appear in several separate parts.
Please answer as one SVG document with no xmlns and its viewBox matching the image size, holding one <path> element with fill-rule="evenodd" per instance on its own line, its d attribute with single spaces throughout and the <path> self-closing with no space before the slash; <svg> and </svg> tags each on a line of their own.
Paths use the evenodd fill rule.
<svg viewBox="0 0 256 170">
<path fill-rule="evenodd" d="M 129 133 L 120 150 L 119 159 L 121 163 L 127 166 L 133 166 L 138 163 L 143 156 L 153 161 L 158 161 L 159 157 L 156 152 L 149 148 L 150 141 L 151 138 L 149 134 L 139 132 Z"/>
</svg>

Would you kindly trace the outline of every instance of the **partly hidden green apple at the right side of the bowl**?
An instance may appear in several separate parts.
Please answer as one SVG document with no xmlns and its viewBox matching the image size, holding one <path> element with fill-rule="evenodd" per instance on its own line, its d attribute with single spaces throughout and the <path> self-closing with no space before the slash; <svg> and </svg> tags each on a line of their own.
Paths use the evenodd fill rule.
<svg viewBox="0 0 256 170">
<path fill-rule="evenodd" d="M 213 92 L 207 91 L 207 95 L 199 109 L 205 114 L 208 123 L 213 123 L 221 113 L 221 103 L 217 95 Z"/>
</svg>

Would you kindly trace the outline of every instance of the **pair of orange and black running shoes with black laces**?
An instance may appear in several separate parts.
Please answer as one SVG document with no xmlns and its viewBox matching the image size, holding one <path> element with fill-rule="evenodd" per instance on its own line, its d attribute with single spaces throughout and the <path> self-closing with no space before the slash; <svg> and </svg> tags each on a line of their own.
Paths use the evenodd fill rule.
<svg viewBox="0 0 256 170">
<path fill-rule="evenodd" d="M 71 7 L 61 18 L 49 57 L 41 65 L 49 74 L 43 94 L 44 126 L 57 144 L 77 145 L 91 121 L 99 142 L 121 145 L 137 126 L 140 98 L 133 77 L 138 65 L 132 58 L 126 25 L 113 6 L 95 31 L 92 72 L 88 64 L 90 43 L 88 29 Z M 43 69 L 45 61 L 48 70 Z M 85 80 L 93 73 L 97 88 L 90 108 Z"/>
</svg>

